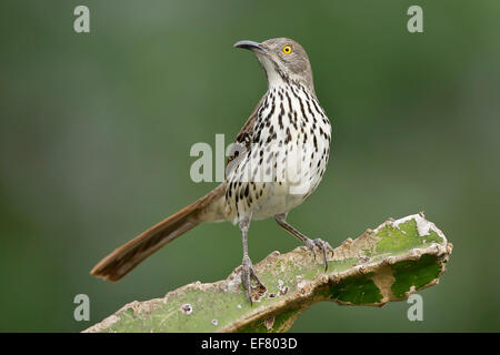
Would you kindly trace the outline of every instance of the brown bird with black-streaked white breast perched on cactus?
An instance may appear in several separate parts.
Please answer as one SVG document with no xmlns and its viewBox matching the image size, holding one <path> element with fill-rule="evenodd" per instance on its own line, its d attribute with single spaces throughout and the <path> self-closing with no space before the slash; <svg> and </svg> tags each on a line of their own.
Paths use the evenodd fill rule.
<svg viewBox="0 0 500 355">
<path fill-rule="evenodd" d="M 114 250 L 91 270 L 92 275 L 119 281 L 194 226 L 232 222 L 242 237 L 241 284 L 252 303 L 267 288 L 248 253 L 248 231 L 251 221 L 271 217 L 301 241 L 314 260 L 318 248 L 327 271 L 327 253 L 333 253 L 331 245 L 308 237 L 287 222 L 290 210 L 317 190 L 330 154 L 331 124 L 316 95 L 309 57 L 302 45 L 289 38 L 243 40 L 233 47 L 253 52 L 266 73 L 268 90 L 236 136 L 224 181 Z"/>
</svg>

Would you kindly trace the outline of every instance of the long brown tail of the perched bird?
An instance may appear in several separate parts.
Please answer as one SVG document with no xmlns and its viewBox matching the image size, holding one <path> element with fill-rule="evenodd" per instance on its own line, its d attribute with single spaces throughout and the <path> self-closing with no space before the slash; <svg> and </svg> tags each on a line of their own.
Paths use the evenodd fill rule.
<svg viewBox="0 0 500 355">
<path fill-rule="evenodd" d="M 219 185 L 189 206 L 153 225 L 127 244 L 101 260 L 90 274 L 108 281 L 119 281 L 144 258 L 204 221 L 217 221 L 221 216 L 218 203 L 223 195 Z"/>
</svg>

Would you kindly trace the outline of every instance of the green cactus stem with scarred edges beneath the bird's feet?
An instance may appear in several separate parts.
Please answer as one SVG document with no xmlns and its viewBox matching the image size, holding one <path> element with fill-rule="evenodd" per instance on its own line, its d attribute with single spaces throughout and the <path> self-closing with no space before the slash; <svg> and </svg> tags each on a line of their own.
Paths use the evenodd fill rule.
<svg viewBox="0 0 500 355">
<path fill-rule="evenodd" d="M 256 265 L 267 291 L 252 305 L 239 266 L 226 280 L 132 302 L 86 332 L 284 332 L 320 301 L 381 306 L 436 285 L 451 250 L 422 213 L 409 215 L 344 241 L 330 253 L 327 272 L 306 247 L 271 253 Z"/>
</svg>

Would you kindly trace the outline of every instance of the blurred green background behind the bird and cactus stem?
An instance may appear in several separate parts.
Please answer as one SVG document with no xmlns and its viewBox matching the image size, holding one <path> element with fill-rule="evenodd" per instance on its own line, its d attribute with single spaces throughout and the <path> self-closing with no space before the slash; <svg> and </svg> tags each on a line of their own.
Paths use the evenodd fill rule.
<svg viewBox="0 0 500 355">
<path fill-rule="evenodd" d="M 90 8 L 91 32 L 73 31 Z M 423 8 L 424 32 L 407 31 Z M 196 142 L 227 143 L 267 89 L 232 44 L 290 37 L 333 123 L 329 169 L 289 221 L 332 245 L 426 211 L 454 244 L 438 286 L 382 308 L 321 303 L 296 332 L 500 331 L 500 2 L 0 2 L 0 331 L 78 332 L 134 300 L 241 263 L 230 223 L 194 229 L 117 284 L 89 275 L 117 246 L 216 183 Z M 254 222 L 254 262 L 298 246 Z M 76 294 L 90 322 L 73 320 Z"/>
</svg>

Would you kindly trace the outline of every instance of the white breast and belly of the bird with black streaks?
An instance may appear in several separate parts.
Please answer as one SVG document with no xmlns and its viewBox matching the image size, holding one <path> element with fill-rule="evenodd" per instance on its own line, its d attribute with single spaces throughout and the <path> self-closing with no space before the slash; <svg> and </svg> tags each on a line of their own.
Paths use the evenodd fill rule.
<svg viewBox="0 0 500 355">
<path fill-rule="evenodd" d="M 273 90 L 258 111 L 254 144 L 228 176 L 228 213 L 234 222 L 297 207 L 327 168 L 331 129 L 319 103 L 311 101 L 316 98 L 299 89 Z"/>
</svg>

